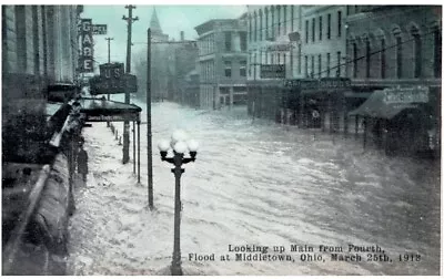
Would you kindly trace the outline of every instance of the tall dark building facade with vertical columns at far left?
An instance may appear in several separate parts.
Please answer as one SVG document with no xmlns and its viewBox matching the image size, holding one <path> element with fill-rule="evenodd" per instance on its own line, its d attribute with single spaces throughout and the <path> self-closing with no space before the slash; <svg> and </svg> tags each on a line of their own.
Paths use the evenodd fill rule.
<svg viewBox="0 0 444 279">
<path fill-rule="evenodd" d="M 77 83 L 81 12 L 81 6 L 2 6 L 3 161 L 40 146 L 49 85 Z"/>
</svg>

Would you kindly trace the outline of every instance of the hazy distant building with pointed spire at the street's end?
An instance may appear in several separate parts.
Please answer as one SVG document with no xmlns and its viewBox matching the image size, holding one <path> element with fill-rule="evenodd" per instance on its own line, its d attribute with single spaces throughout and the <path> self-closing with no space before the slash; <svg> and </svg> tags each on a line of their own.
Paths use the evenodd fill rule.
<svg viewBox="0 0 444 279">
<path fill-rule="evenodd" d="M 150 20 L 151 29 L 151 94 L 153 100 L 168 97 L 169 90 L 169 35 L 164 34 L 155 8 Z"/>
</svg>

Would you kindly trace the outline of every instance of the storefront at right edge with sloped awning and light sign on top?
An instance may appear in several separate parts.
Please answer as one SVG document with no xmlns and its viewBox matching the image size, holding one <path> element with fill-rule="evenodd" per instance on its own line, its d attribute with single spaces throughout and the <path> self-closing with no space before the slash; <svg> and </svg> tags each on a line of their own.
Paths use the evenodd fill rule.
<svg viewBox="0 0 444 279">
<path fill-rule="evenodd" d="M 350 113 L 364 123 L 364 147 L 374 144 L 386 154 L 438 153 L 438 93 L 427 86 L 396 86 L 374 91 Z"/>
</svg>

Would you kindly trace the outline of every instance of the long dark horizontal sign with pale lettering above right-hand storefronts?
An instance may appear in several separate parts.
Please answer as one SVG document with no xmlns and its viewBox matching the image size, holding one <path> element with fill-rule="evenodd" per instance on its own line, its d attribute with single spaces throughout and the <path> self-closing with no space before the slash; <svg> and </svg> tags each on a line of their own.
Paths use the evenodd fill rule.
<svg viewBox="0 0 444 279">
<path fill-rule="evenodd" d="M 335 89 L 350 89 L 352 82 L 345 78 L 322 78 L 319 80 L 301 79 L 301 80 L 285 80 L 286 87 L 297 87 L 301 90 L 335 90 Z"/>
</svg>

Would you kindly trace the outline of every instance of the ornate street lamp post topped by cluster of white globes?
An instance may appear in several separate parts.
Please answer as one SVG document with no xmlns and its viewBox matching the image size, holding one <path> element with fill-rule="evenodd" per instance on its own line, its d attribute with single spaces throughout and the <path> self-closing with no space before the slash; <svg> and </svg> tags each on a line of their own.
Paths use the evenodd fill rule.
<svg viewBox="0 0 444 279">
<path fill-rule="evenodd" d="M 182 203 L 180 199 L 180 178 L 182 174 L 185 172 L 182 168 L 183 164 L 188 164 L 190 162 L 195 161 L 195 156 L 198 154 L 198 142 L 194 140 L 190 140 L 185 143 L 186 135 L 183 131 L 176 131 L 173 133 L 171 137 L 171 142 L 162 141 L 159 143 L 158 147 L 160 149 L 160 155 L 162 161 L 165 161 L 170 164 L 174 165 L 174 168 L 171 168 L 171 172 L 175 177 L 175 195 L 174 195 L 174 247 L 173 247 L 173 259 L 171 262 L 171 275 L 172 276 L 181 276 L 182 267 L 181 267 L 181 251 L 180 251 L 180 211 L 182 208 Z M 173 157 L 167 157 L 168 151 L 173 148 Z M 184 157 L 184 154 L 189 151 L 190 157 Z"/>
</svg>

